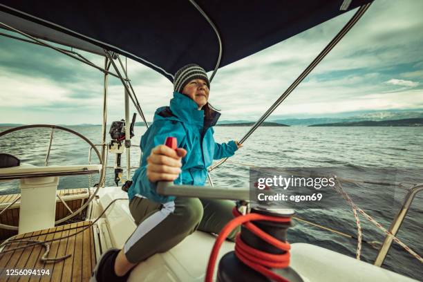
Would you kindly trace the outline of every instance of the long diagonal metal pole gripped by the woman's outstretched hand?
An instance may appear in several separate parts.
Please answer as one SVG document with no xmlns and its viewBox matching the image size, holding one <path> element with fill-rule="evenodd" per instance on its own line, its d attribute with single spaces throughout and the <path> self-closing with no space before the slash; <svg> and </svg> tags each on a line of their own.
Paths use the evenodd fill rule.
<svg viewBox="0 0 423 282">
<path fill-rule="evenodd" d="M 294 82 L 288 87 L 287 90 L 270 106 L 270 108 L 259 118 L 259 120 L 252 126 L 250 131 L 248 131 L 243 138 L 239 141 L 240 144 L 243 144 L 245 140 L 247 140 L 248 137 L 265 121 L 265 119 L 273 113 L 273 111 L 283 102 L 283 100 L 294 91 L 294 89 L 307 77 L 308 74 L 311 73 L 311 71 L 321 62 L 321 60 L 328 55 L 330 50 L 335 47 L 335 45 L 344 37 L 344 35 L 347 34 L 348 31 L 350 31 L 351 28 L 357 23 L 357 21 L 361 18 L 362 15 L 364 15 L 364 12 L 370 7 L 370 3 L 361 6 L 357 12 L 353 15 L 353 17 L 346 23 L 344 28 L 341 29 L 341 31 L 338 32 L 338 34 L 335 36 L 332 41 L 321 51 L 321 53 L 313 60 L 313 62 L 301 73 L 297 79 L 295 79 Z M 213 169 L 216 169 L 220 164 L 223 164 L 228 158 L 224 158 L 223 160 L 220 160 L 218 163 L 214 164 L 212 167 L 209 167 L 209 171 L 212 171 Z"/>
</svg>

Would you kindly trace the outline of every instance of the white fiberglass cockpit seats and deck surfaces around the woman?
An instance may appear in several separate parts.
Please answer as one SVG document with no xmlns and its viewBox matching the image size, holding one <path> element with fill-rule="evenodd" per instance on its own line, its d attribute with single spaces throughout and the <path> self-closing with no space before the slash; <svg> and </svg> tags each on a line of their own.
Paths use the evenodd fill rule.
<svg viewBox="0 0 423 282">
<path fill-rule="evenodd" d="M 127 198 L 120 187 L 100 189 L 99 196 L 93 203 L 91 219 L 95 219 L 113 199 Z M 122 248 L 136 227 L 129 212 L 128 200 L 113 203 L 113 207 L 97 222 L 97 226 L 100 238 L 98 243 L 102 245 L 102 250 Z M 137 265 L 131 272 L 129 282 L 204 281 L 214 239 L 211 234 L 194 232 L 168 252 L 151 256 Z M 415 281 L 316 245 L 294 243 L 291 247 L 290 267 L 304 281 Z M 225 242 L 220 248 L 219 258 L 232 250 L 234 243 Z"/>
</svg>

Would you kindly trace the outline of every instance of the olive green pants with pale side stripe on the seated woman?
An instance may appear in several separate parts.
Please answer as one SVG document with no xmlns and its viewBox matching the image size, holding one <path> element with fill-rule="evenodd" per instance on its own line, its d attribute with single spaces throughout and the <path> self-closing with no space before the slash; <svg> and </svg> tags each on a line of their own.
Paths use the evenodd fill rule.
<svg viewBox="0 0 423 282">
<path fill-rule="evenodd" d="M 135 196 L 129 209 L 138 227 L 124 245 L 126 258 L 139 263 L 150 256 L 166 252 L 196 229 L 218 234 L 234 216 L 235 203 L 229 200 L 176 198 L 169 203 L 156 203 Z M 239 228 L 229 234 L 234 241 Z"/>
</svg>

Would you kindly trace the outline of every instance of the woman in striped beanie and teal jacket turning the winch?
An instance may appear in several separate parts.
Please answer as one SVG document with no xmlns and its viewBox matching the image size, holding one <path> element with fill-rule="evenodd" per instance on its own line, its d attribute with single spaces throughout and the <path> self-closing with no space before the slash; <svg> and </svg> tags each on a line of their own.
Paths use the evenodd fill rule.
<svg viewBox="0 0 423 282">
<path fill-rule="evenodd" d="M 95 267 L 93 281 L 126 281 L 132 267 L 158 252 L 166 252 L 196 229 L 219 233 L 232 219 L 228 200 L 175 198 L 156 193 L 158 181 L 204 185 L 213 160 L 233 156 L 236 141 L 214 142 L 220 113 L 209 105 L 210 82 L 203 68 L 189 64 L 173 80 L 170 106 L 157 109 L 153 124 L 142 135 L 142 160 L 129 187 L 129 209 L 138 225 L 122 250 L 105 252 Z M 176 151 L 164 146 L 176 137 Z M 229 234 L 234 239 L 238 229 Z"/>
</svg>

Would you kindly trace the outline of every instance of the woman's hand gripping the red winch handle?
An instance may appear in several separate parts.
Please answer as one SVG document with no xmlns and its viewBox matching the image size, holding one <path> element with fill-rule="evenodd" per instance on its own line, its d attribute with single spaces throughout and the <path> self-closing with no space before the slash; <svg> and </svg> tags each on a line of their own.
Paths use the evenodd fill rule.
<svg viewBox="0 0 423 282">
<path fill-rule="evenodd" d="M 151 182 L 173 181 L 178 178 L 182 167 L 182 158 L 187 155 L 187 150 L 175 150 L 158 145 L 151 150 L 147 157 L 147 178 Z"/>
</svg>

